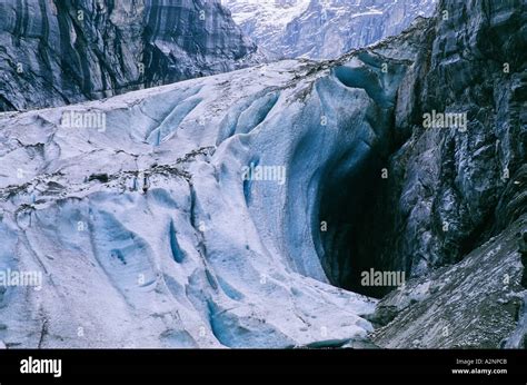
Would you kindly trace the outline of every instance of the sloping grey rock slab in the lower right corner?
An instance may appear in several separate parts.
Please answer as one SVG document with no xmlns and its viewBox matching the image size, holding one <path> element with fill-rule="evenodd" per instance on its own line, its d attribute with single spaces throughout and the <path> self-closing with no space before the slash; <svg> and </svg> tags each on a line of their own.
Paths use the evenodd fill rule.
<svg viewBox="0 0 527 385">
<path fill-rule="evenodd" d="M 385 348 L 497 348 L 515 333 L 523 308 L 524 265 L 516 234 L 527 216 L 461 263 L 411 279 L 384 298 L 377 315 L 396 313 L 372 340 Z M 526 335 L 516 332 L 518 340 Z M 510 346 L 521 347 L 521 346 Z"/>
</svg>

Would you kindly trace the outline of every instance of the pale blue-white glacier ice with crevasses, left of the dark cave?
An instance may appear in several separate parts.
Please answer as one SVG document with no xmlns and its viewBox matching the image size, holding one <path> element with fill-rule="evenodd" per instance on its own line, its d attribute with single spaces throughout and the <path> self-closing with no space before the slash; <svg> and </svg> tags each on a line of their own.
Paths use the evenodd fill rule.
<svg viewBox="0 0 527 385">
<path fill-rule="evenodd" d="M 375 300 L 331 286 L 320 196 L 381 144 L 405 68 L 287 60 L 0 116 L 0 342 L 352 346 Z M 71 110 L 106 130 L 61 127 Z M 249 165 L 284 184 L 243 180 Z"/>
</svg>

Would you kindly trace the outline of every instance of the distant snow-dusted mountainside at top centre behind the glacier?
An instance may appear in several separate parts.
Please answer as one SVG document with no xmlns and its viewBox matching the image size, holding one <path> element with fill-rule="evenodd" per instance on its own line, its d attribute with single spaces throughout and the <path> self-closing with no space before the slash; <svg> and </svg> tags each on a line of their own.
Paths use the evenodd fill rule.
<svg viewBox="0 0 527 385">
<path fill-rule="evenodd" d="M 232 17 L 270 57 L 331 59 L 431 16 L 437 0 L 227 0 Z"/>
</svg>

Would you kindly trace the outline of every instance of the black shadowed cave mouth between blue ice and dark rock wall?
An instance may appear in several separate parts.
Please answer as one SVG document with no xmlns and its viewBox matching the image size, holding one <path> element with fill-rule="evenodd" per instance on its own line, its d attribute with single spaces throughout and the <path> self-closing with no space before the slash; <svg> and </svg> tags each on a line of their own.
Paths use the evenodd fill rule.
<svg viewBox="0 0 527 385">
<path fill-rule="evenodd" d="M 406 278 L 404 269 L 392 272 L 382 264 L 375 245 L 386 229 L 368 217 L 386 188 L 384 164 L 372 154 L 344 177 L 328 175 L 319 206 L 320 224 L 326 226 L 319 228 L 318 253 L 327 278 L 334 286 L 374 298 L 386 296 Z"/>
</svg>

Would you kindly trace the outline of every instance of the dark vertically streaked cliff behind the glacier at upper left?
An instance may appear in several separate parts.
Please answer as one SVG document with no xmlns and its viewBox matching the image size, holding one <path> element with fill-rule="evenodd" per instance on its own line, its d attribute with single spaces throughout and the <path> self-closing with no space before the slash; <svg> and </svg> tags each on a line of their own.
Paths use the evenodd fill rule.
<svg viewBox="0 0 527 385">
<path fill-rule="evenodd" d="M 0 111 L 225 72 L 257 48 L 218 1 L 1 1 Z"/>
</svg>

